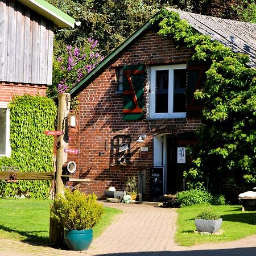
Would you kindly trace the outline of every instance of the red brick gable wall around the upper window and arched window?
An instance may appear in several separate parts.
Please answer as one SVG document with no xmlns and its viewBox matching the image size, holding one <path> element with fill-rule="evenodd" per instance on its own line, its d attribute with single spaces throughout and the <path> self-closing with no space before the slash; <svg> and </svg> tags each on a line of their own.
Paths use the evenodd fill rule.
<svg viewBox="0 0 256 256">
<path fill-rule="evenodd" d="M 75 160 L 77 177 L 91 179 L 90 183 L 82 183 L 85 192 L 94 192 L 104 196 L 104 191 L 110 186 L 120 190 L 125 187 L 127 176 L 138 175 L 146 170 L 147 193 L 149 196 L 149 170 L 153 166 L 153 137 L 158 133 L 173 131 L 175 134 L 195 131 L 200 124 L 199 118 L 181 119 L 147 119 L 123 121 L 122 94 L 115 94 L 117 77 L 115 69 L 118 66 L 144 64 L 146 68 L 152 64 L 187 63 L 191 51 L 187 48 L 177 49 L 171 40 L 161 38 L 149 31 L 117 57 L 89 86 L 79 94 L 80 116 L 77 131 L 71 133 L 73 143 L 70 147 L 79 148 L 79 155 L 70 155 Z M 146 109 L 146 84 L 144 79 L 144 108 Z M 110 141 L 118 134 L 131 136 L 131 165 L 110 166 Z M 135 143 L 138 136 L 146 134 L 144 143 Z M 140 159 L 139 147 L 148 147 L 146 160 Z M 98 152 L 104 152 L 99 156 Z"/>
</svg>

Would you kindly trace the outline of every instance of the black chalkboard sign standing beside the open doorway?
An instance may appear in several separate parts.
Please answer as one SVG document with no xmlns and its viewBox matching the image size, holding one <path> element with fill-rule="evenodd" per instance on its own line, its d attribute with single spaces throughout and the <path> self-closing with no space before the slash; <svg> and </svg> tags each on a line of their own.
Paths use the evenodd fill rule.
<svg viewBox="0 0 256 256">
<path fill-rule="evenodd" d="M 156 166 L 150 170 L 151 197 L 163 196 L 163 166 Z"/>
</svg>

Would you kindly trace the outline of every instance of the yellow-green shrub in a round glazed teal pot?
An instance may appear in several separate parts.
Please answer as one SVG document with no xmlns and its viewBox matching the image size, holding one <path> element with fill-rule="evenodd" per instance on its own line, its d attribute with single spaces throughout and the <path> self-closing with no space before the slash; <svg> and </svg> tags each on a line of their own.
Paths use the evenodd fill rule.
<svg viewBox="0 0 256 256">
<path fill-rule="evenodd" d="M 64 240 L 71 250 L 87 250 L 93 240 L 93 226 L 100 220 L 103 207 L 97 196 L 85 195 L 79 190 L 65 190 L 64 195 L 53 201 L 51 217 L 63 225 Z"/>
</svg>

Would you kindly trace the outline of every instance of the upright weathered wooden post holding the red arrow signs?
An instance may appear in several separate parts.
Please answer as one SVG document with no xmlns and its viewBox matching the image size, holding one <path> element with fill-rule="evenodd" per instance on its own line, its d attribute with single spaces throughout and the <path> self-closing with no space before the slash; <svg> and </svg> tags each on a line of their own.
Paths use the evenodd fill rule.
<svg viewBox="0 0 256 256">
<path fill-rule="evenodd" d="M 57 130 L 63 131 L 63 134 L 59 135 L 59 137 L 57 138 L 57 166 L 55 187 L 56 198 L 64 192 L 64 184 L 61 179 L 61 174 L 63 164 L 68 160 L 68 154 L 65 153 L 64 150 L 65 147 L 67 147 L 68 145 L 68 113 L 71 97 L 69 93 L 59 93 L 58 99 L 59 104 Z M 63 245 L 63 236 L 63 226 L 50 218 L 49 244 L 54 247 L 60 247 L 61 245 Z"/>
</svg>

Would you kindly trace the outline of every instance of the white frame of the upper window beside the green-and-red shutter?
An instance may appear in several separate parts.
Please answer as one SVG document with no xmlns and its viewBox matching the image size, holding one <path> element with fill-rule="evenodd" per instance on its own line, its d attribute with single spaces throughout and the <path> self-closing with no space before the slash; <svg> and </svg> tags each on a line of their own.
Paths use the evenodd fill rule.
<svg viewBox="0 0 256 256">
<path fill-rule="evenodd" d="M 168 98 L 168 113 L 155 113 L 155 82 L 156 71 L 168 70 L 169 71 L 169 88 L 168 95 L 174 95 L 174 70 L 187 69 L 186 64 L 176 65 L 159 65 L 150 68 L 150 118 L 185 118 L 186 112 L 173 112 L 174 98 Z"/>
</svg>

